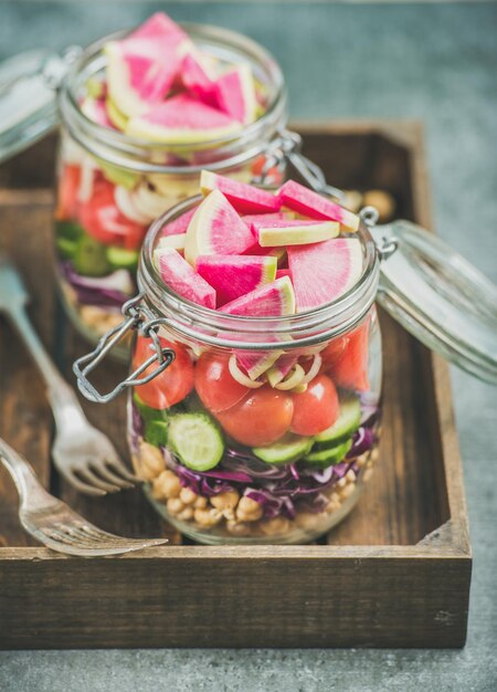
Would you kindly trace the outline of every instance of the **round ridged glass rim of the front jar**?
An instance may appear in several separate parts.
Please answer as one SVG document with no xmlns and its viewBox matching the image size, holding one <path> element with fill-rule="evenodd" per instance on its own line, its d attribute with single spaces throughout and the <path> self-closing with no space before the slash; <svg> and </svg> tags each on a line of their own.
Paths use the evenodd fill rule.
<svg viewBox="0 0 497 692">
<path fill-rule="evenodd" d="M 377 245 L 361 220 L 355 234 L 361 242 L 363 269 L 357 283 L 335 301 L 288 316 L 252 317 L 229 315 L 198 305 L 169 289 L 154 265 L 154 250 L 162 228 L 192 209 L 201 195 L 183 200 L 150 226 L 138 268 L 138 286 L 155 316 L 175 331 L 213 346 L 250 350 L 293 349 L 314 346 L 350 332 L 374 302 L 380 262 Z M 163 319 L 162 319 L 163 318 Z M 267 335 L 275 338 L 267 340 Z"/>
</svg>

